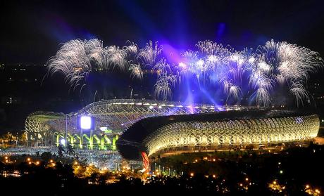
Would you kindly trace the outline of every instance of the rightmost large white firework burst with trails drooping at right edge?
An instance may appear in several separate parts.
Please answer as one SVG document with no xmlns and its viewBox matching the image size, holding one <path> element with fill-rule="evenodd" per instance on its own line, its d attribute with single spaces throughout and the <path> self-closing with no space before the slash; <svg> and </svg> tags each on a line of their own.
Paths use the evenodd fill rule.
<svg viewBox="0 0 324 196">
<path fill-rule="evenodd" d="M 288 44 L 285 41 L 267 41 L 266 45 L 257 51 L 259 60 L 255 72 L 263 72 L 273 81 L 273 86 L 287 84 L 297 103 L 309 98 L 304 84 L 311 72 L 323 67 L 319 54 L 309 48 Z"/>
</svg>

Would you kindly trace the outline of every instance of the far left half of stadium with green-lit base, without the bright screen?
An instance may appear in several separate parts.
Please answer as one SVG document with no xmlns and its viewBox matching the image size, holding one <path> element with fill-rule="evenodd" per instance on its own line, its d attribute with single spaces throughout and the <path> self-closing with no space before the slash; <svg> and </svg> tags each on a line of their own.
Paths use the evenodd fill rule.
<svg viewBox="0 0 324 196">
<path fill-rule="evenodd" d="M 234 107 L 228 108 L 232 110 Z M 218 110 L 225 109 L 215 105 L 184 105 L 154 100 L 102 100 L 70 114 L 33 112 L 27 116 L 25 131 L 29 145 L 58 145 L 66 137 L 69 143 L 78 148 L 116 150 L 118 136 L 140 119 Z M 94 130 L 82 132 L 77 129 L 77 117 L 82 115 L 95 119 Z"/>
</svg>

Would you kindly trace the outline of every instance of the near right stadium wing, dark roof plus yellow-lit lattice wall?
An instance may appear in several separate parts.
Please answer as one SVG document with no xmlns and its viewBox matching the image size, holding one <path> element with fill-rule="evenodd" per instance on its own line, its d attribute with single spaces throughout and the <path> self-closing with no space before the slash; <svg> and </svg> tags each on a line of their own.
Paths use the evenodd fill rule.
<svg viewBox="0 0 324 196">
<path fill-rule="evenodd" d="M 199 115 L 150 117 L 132 125 L 120 137 L 136 145 L 117 143 L 123 157 L 182 152 L 273 148 L 311 141 L 319 119 L 311 112 L 292 110 L 232 110 Z"/>
</svg>

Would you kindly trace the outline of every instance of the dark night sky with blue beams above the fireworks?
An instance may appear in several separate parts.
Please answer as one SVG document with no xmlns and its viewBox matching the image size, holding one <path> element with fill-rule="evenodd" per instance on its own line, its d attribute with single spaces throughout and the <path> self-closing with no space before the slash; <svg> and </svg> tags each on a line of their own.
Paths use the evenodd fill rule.
<svg viewBox="0 0 324 196">
<path fill-rule="evenodd" d="M 179 50 L 205 39 L 237 50 L 275 39 L 324 53 L 323 1 L 1 1 L 0 15 L 1 63 L 46 63 L 77 38 Z"/>
</svg>

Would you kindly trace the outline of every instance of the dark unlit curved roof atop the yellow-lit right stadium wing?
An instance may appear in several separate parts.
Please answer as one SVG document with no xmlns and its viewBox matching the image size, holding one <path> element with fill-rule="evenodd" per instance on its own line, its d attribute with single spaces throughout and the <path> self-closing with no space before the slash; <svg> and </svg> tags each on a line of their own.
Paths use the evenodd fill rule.
<svg viewBox="0 0 324 196">
<path fill-rule="evenodd" d="M 139 152 L 146 151 L 143 141 L 154 131 L 168 124 L 177 122 L 217 122 L 234 121 L 239 119 L 267 119 L 275 117 L 299 117 L 313 114 L 310 110 L 230 110 L 192 115 L 172 115 L 148 117 L 141 119 L 120 136 L 117 141 L 120 154 L 127 159 L 139 159 Z"/>
</svg>

